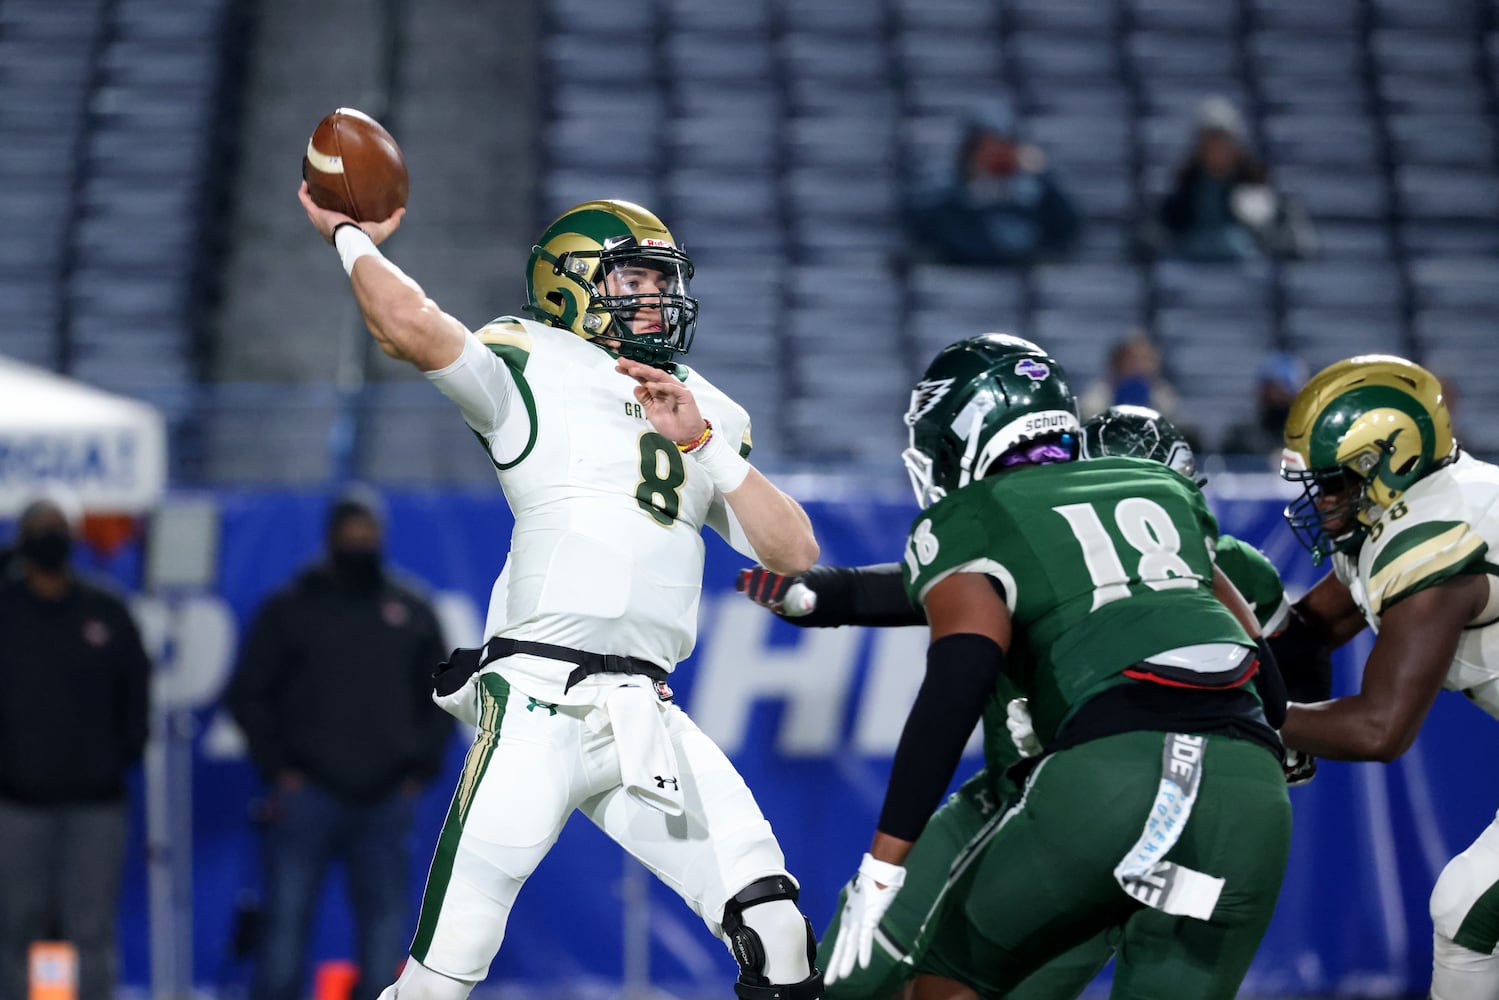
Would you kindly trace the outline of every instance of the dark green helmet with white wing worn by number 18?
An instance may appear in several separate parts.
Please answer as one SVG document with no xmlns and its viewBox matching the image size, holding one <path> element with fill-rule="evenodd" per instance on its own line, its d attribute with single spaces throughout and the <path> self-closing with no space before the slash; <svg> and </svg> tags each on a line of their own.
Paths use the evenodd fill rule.
<svg viewBox="0 0 1499 1000">
<path fill-rule="evenodd" d="M 1078 406 L 1066 372 L 1030 340 L 1003 333 L 943 348 L 911 390 L 905 426 L 911 445 L 901 459 L 922 507 L 1007 465 L 1076 457 Z"/>
</svg>

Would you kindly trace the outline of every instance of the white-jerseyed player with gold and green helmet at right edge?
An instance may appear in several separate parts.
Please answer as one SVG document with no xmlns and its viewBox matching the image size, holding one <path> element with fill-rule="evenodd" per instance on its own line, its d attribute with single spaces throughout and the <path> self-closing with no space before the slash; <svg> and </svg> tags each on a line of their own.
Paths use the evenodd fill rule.
<svg viewBox="0 0 1499 1000">
<path fill-rule="evenodd" d="M 1286 748 L 1391 762 L 1442 688 L 1499 718 L 1499 468 L 1460 451 L 1436 378 L 1388 355 L 1319 372 L 1286 420 L 1282 475 L 1306 487 L 1292 529 L 1333 559 L 1292 609 L 1292 646 L 1376 633 L 1360 693 L 1292 705 Z M 1433 1000 L 1499 997 L 1499 819 L 1442 871 L 1432 921 Z"/>
</svg>

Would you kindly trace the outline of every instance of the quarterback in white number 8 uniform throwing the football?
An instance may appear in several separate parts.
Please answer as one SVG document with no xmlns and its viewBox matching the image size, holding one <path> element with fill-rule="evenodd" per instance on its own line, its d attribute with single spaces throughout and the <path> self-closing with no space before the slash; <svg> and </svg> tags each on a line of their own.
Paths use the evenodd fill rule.
<svg viewBox="0 0 1499 1000">
<path fill-rule="evenodd" d="M 574 810 L 730 948 L 736 996 L 817 1000 L 775 835 L 666 684 L 696 640 L 705 525 L 787 573 L 817 561 L 806 514 L 747 460 L 745 411 L 676 361 L 697 324 L 691 259 L 645 208 L 585 202 L 532 247 L 534 319 L 471 333 L 376 249 L 403 210 L 355 225 L 306 186 L 301 201 L 376 342 L 457 403 L 516 517 L 487 642 L 454 654 L 472 678 L 451 708 L 478 733 L 382 1000 L 466 997 Z"/>
</svg>

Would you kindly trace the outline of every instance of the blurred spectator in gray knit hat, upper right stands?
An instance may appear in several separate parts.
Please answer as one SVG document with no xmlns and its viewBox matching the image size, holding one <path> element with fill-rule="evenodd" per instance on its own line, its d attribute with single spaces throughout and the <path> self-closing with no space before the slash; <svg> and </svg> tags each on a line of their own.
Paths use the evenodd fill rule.
<svg viewBox="0 0 1499 1000">
<path fill-rule="evenodd" d="M 1192 261 L 1312 252 L 1306 216 L 1270 186 L 1265 163 L 1249 147 L 1244 118 L 1223 97 L 1199 105 L 1192 153 L 1177 171 L 1157 225 L 1147 241 Z"/>
</svg>

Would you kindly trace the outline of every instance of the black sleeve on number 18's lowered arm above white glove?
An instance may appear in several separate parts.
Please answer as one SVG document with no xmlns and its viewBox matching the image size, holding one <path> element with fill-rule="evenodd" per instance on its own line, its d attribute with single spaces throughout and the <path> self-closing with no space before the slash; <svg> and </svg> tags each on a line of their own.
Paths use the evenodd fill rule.
<svg viewBox="0 0 1499 1000">
<path fill-rule="evenodd" d="M 926 649 L 926 678 L 890 766 L 881 834 L 910 841 L 920 837 L 1003 667 L 1004 651 L 986 636 L 943 636 Z"/>
</svg>

